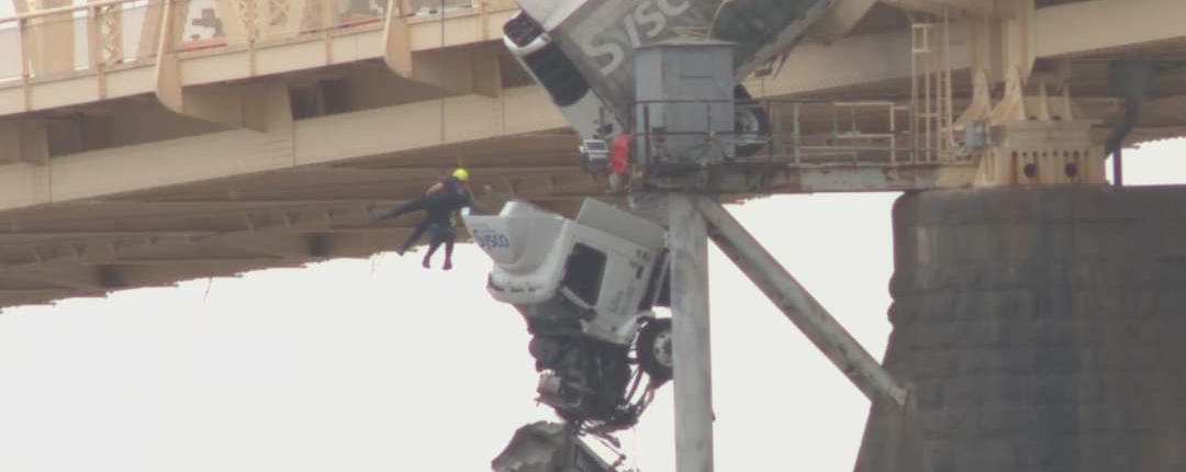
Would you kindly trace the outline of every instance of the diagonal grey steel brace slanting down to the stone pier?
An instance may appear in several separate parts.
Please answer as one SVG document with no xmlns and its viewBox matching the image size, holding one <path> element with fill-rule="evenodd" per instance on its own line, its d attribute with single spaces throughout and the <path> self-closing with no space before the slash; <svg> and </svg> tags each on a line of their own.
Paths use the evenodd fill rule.
<svg viewBox="0 0 1186 472">
<path fill-rule="evenodd" d="M 906 404 L 906 389 L 720 203 L 696 198 L 696 208 L 710 227 L 708 237 L 865 396 Z"/>
</svg>

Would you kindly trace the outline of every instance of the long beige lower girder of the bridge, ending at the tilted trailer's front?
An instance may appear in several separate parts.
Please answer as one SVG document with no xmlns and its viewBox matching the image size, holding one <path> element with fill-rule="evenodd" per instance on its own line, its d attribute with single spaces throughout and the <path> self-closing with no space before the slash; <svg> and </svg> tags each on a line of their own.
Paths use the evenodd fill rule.
<svg viewBox="0 0 1186 472">
<path fill-rule="evenodd" d="M 446 128 L 440 129 L 444 109 Z M 0 211 L 110 197 L 302 165 L 477 142 L 565 127 L 534 87 L 301 120 L 291 130 L 232 129 L 0 166 Z M 52 181 L 52 185 L 50 183 Z"/>
</svg>

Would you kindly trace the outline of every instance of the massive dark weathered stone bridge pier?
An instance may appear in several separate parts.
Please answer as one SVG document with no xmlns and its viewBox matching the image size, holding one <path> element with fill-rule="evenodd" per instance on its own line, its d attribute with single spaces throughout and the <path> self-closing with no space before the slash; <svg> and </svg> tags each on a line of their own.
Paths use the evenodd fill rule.
<svg viewBox="0 0 1186 472">
<path fill-rule="evenodd" d="M 1186 187 L 908 193 L 857 472 L 1186 471 Z"/>
</svg>

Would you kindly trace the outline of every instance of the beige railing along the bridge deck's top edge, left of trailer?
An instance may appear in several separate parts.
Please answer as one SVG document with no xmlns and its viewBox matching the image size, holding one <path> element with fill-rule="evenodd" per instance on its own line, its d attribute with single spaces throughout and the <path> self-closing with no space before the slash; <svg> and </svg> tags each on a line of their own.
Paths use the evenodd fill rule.
<svg viewBox="0 0 1186 472">
<path fill-rule="evenodd" d="M 69 1 L 69 0 L 66 0 Z M 515 8 L 514 0 L 98 0 L 0 18 L 0 88 L 155 62 L 165 4 L 170 51 L 287 42 L 404 18 Z"/>
</svg>

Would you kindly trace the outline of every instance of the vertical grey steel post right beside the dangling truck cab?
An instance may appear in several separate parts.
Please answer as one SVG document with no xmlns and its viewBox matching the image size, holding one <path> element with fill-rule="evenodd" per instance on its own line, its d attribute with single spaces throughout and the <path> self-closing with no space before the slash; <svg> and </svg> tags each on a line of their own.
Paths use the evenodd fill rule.
<svg viewBox="0 0 1186 472">
<path fill-rule="evenodd" d="M 708 231 L 701 197 L 668 197 L 676 472 L 713 471 L 713 389 L 708 340 Z"/>
</svg>

